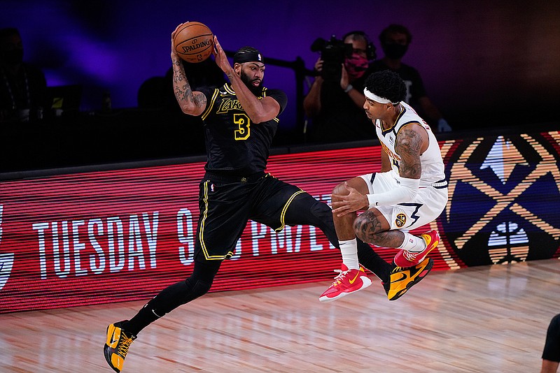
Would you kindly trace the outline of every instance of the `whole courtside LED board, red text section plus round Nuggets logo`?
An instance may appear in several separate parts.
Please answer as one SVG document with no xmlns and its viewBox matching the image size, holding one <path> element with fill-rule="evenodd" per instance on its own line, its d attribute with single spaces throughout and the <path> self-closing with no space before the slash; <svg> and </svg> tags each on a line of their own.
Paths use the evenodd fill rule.
<svg viewBox="0 0 560 373">
<path fill-rule="evenodd" d="M 560 182 L 554 163 L 559 158 L 558 138 L 558 133 L 547 133 L 512 140 L 514 147 L 525 149 L 524 164 L 537 170 L 533 173 L 525 166 L 517 168 L 519 159 L 507 153 L 496 158 L 500 170 L 490 167 L 493 164 L 484 166 L 492 154 L 490 147 L 507 145 L 499 137 L 440 143 L 451 179 L 450 201 L 440 218 L 419 229 L 440 231 L 440 247 L 430 255 L 435 269 L 557 256 L 557 217 L 547 215 L 531 199 L 533 194 L 524 194 L 531 203 L 517 201 L 504 207 L 500 196 L 521 196 L 516 186 L 519 173 L 521 178 L 531 176 L 524 183 L 547 191 L 548 205 L 558 203 L 559 191 L 554 189 L 554 182 Z M 529 149 L 537 152 L 530 154 Z M 542 149 L 552 154 L 544 164 Z M 338 182 L 379 170 L 380 151 L 363 147 L 276 155 L 267 171 L 328 203 Z M 188 277 L 203 166 L 188 163 L 0 182 L 0 313 L 147 299 Z M 500 180 L 491 186 L 495 180 L 489 170 L 502 175 L 504 169 L 511 186 Z M 494 188 L 512 191 L 500 191 L 498 196 Z M 470 198 L 479 203 L 470 203 Z M 502 204 L 500 210 L 493 207 L 492 198 Z M 475 224 L 478 220 L 485 225 Z M 502 227 L 506 231 L 517 227 L 517 235 L 511 236 L 515 240 L 500 233 Z M 545 242 L 543 238 L 548 240 L 546 253 L 531 257 L 537 252 L 531 242 Z M 486 247 L 484 255 L 470 255 L 481 246 Z M 518 258 L 521 250 L 524 254 Z M 395 254 L 389 248 L 376 251 L 387 261 Z M 211 291 L 325 281 L 334 277 L 332 270 L 340 260 L 339 251 L 314 227 L 286 227 L 274 233 L 249 221 L 235 256 L 223 263 Z M 379 293 L 384 294 L 381 287 Z"/>
</svg>

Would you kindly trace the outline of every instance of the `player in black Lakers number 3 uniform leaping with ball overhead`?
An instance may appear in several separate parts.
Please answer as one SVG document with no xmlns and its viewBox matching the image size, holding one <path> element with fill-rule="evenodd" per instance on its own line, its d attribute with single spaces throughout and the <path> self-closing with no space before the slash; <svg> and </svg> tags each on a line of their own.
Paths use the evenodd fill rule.
<svg viewBox="0 0 560 373">
<path fill-rule="evenodd" d="M 214 45 L 216 64 L 230 80 L 218 88 L 201 87 L 193 92 L 173 43 L 171 53 L 176 99 L 185 114 L 202 117 L 207 148 L 206 174 L 199 187 L 193 274 L 163 289 L 130 321 L 107 328 L 104 354 L 116 372 L 122 370 L 138 332 L 209 291 L 222 261 L 233 255 L 249 219 L 277 232 L 286 225 L 316 226 L 338 247 L 330 207 L 265 173 L 286 94 L 262 86 L 265 64 L 258 50 L 242 47 L 231 66 L 217 38 Z M 358 243 L 358 255 L 360 263 L 388 283 L 393 270 L 389 263 L 363 242 Z M 358 275 L 365 277 L 363 269 Z"/>
</svg>

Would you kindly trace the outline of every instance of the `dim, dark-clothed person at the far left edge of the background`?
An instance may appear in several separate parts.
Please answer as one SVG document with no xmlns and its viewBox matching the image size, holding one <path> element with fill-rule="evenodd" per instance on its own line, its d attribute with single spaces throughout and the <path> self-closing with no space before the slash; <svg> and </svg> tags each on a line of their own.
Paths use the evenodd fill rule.
<svg viewBox="0 0 560 373">
<path fill-rule="evenodd" d="M 23 61 L 18 29 L 0 29 L 0 122 L 41 119 L 46 87 L 43 72 Z"/>
</svg>

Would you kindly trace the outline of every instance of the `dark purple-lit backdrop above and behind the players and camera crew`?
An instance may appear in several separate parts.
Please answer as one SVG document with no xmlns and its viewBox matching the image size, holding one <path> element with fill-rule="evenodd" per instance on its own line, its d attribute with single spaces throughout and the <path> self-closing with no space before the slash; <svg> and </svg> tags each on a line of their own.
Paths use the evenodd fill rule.
<svg viewBox="0 0 560 373">
<path fill-rule="evenodd" d="M 312 68 L 317 38 L 362 29 L 372 38 L 390 23 L 413 34 L 403 59 L 419 69 L 432 100 L 456 128 L 500 120 L 560 119 L 560 1 L 25 1 L 0 3 L 0 27 L 18 27 L 25 59 L 48 85 L 80 83 L 83 110 L 96 110 L 109 90 L 113 108 L 137 105 L 144 80 L 169 68 L 170 34 L 197 20 L 211 27 L 226 50 L 257 47 L 265 58 Z M 496 5 L 496 3 L 504 5 Z M 267 87 L 286 90 L 283 124 L 294 126 L 294 75 L 267 67 Z M 494 110 L 492 115 L 489 110 Z M 484 117 L 489 119 L 484 119 Z"/>
</svg>

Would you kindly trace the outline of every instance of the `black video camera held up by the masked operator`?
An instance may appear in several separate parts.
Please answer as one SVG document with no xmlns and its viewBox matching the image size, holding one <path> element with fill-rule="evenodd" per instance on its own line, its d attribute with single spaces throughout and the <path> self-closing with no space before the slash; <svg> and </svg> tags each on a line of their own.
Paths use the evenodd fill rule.
<svg viewBox="0 0 560 373">
<path fill-rule="evenodd" d="M 350 57 L 353 47 L 349 43 L 338 40 L 335 35 L 330 36 L 329 41 L 317 38 L 311 44 L 311 52 L 321 52 L 323 70 L 321 76 L 325 81 L 339 82 L 342 74 L 342 64 L 346 57 Z"/>
</svg>

